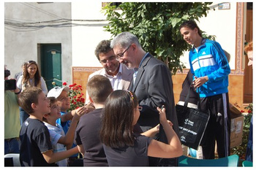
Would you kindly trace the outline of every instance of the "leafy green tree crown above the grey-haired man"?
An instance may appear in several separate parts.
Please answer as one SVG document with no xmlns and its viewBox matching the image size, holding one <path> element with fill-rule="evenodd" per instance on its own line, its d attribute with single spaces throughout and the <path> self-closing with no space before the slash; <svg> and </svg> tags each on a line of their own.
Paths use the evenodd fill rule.
<svg viewBox="0 0 256 170">
<path fill-rule="evenodd" d="M 105 31 L 113 36 L 129 31 L 138 36 L 143 49 L 167 63 L 173 74 L 185 67 L 180 56 L 191 46 L 182 38 L 179 26 L 184 20 L 207 16 L 211 2 L 124 2 L 103 7 L 109 20 Z M 206 35 L 206 37 L 208 37 Z M 210 38 L 214 38 L 211 36 Z"/>
</svg>

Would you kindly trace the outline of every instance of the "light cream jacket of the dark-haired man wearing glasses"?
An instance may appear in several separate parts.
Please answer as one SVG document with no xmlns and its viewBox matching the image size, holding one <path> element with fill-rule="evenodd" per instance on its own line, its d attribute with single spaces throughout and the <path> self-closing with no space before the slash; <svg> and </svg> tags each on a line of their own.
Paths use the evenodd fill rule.
<svg viewBox="0 0 256 170">
<path fill-rule="evenodd" d="M 134 71 L 132 69 L 127 69 L 127 66 L 125 66 L 124 64 L 120 63 L 120 66 L 122 67 L 122 72 L 121 72 L 121 89 L 113 89 L 113 90 L 128 90 L 129 88 L 129 84 L 132 81 L 133 78 L 133 73 Z M 92 74 L 89 75 L 88 77 L 88 81 L 91 79 L 91 77 L 94 77 L 94 75 L 103 75 L 106 76 L 106 71 L 105 69 L 100 69 L 97 72 L 94 72 Z M 89 102 L 89 95 L 86 91 L 86 104 Z"/>
</svg>

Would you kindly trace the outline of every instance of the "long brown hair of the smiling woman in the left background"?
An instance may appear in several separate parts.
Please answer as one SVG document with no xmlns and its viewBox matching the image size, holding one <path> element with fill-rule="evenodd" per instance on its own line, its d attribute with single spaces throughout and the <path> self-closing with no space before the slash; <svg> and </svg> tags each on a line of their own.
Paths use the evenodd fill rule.
<svg viewBox="0 0 256 170">
<path fill-rule="evenodd" d="M 23 80 L 22 82 L 23 83 L 26 83 L 29 81 L 29 72 L 28 72 L 28 68 L 29 66 L 31 66 L 31 64 L 34 64 L 37 66 L 37 72 L 34 74 L 34 86 L 37 86 L 39 85 L 39 82 L 40 82 L 40 79 L 41 79 L 41 75 L 40 75 L 40 72 L 39 72 L 39 69 L 38 69 L 38 65 L 37 65 L 37 62 L 36 61 L 28 61 L 25 66 L 25 70 L 23 70 Z"/>
</svg>

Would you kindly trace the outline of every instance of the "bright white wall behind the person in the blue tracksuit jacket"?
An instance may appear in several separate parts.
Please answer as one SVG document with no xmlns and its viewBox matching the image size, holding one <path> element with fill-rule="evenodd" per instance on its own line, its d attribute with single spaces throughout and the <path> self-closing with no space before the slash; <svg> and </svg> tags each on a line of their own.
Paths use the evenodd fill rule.
<svg viewBox="0 0 256 170">
<path fill-rule="evenodd" d="M 215 2 L 211 7 L 217 4 Z M 230 53 L 230 69 L 236 69 L 236 2 L 230 2 L 230 9 L 211 9 L 207 17 L 200 18 L 200 23 L 197 24 L 206 34 L 216 36 L 222 49 Z M 188 52 L 184 53 L 181 61 L 189 69 L 188 56 Z"/>
</svg>

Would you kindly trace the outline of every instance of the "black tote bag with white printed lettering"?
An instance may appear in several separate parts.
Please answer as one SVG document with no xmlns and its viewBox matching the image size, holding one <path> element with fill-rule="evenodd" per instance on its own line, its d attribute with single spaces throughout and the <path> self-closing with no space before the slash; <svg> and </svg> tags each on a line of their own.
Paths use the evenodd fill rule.
<svg viewBox="0 0 256 170">
<path fill-rule="evenodd" d="M 192 88 L 189 88 L 189 93 Z M 200 98 L 198 95 L 197 109 L 187 107 L 189 101 L 189 93 L 185 99 L 184 106 L 176 104 L 176 113 L 178 118 L 178 128 L 181 144 L 197 150 L 210 115 L 200 110 Z"/>
</svg>

